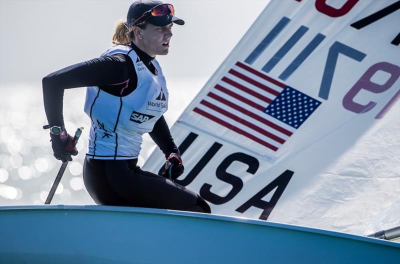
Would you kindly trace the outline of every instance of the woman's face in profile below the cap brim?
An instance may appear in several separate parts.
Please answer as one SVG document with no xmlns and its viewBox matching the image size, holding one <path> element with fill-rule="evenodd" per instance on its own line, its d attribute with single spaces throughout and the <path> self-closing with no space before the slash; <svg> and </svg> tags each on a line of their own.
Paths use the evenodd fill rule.
<svg viewBox="0 0 400 264">
<path fill-rule="evenodd" d="M 168 54 L 169 40 L 172 36 L 172 23 L 165 26 L 156 26 L 148 23 L 140 29 L 141 48 L 149 56 Z"/>
</svg>

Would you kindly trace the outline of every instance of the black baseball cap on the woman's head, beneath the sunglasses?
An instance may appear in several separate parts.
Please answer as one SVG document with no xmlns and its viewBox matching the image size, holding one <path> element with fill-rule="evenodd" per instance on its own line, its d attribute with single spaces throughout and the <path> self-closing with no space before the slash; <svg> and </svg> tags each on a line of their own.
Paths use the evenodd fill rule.
<svg viewBox="0 0 400 264">
<path fill-rule="evenodd" d="M 126 16 L 126 25 L 131 26 L 132 23 L 139 18 L 145 11 L 150 10 L 158 4 L 163 4 L 161 1 L 157 0 L 136 0 L 130 6 L 128 14 Z M 152 16 L 146 19 L 146 22 L 151 23 L 156 26 L 165 26 L 170 23 L 175 23 L 178 25 L 184 24 L 184 21 L 174 15 L 166 14 L 160 16 Z"/>
</svg>

